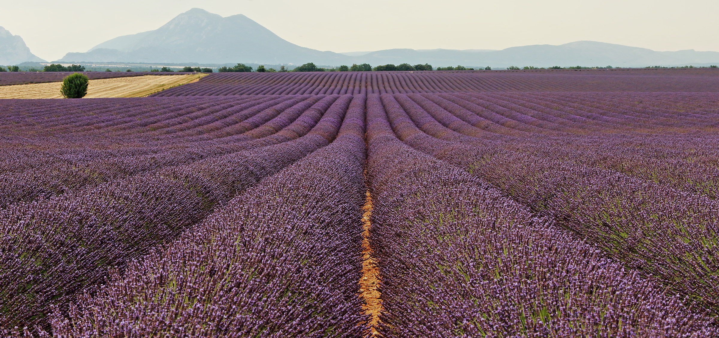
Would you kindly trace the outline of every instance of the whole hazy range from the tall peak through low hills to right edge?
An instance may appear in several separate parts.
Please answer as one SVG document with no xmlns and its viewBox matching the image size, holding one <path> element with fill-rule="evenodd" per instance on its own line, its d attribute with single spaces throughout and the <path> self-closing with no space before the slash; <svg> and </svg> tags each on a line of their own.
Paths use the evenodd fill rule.
<svg viewBox="0 0 719 338">
<path fill-rule="evenodd" d="M 88 52 L 70 52 L 57 62 L 138 63 L 265 63 L 351 65 L 370 63 L 429 63 L 434 66 L 465 65 L 550 67 L 552 65 L 645 67 L 718 63 L 719 52 L 657 52 L 605 42 L 577 41 L 564 45 L 528 45 L 504 50 L 412 50 L 374 52 L 322 52 L 283 40 L 242 14 L 221 17 L 203 9 L 191 9 L 162 27 L 103 42 Z"/>
</svg>

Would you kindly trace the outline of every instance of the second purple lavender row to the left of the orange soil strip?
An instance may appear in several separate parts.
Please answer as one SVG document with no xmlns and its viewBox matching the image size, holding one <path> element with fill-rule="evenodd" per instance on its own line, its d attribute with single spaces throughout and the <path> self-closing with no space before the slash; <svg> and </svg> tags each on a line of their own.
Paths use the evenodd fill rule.
<svg viewBox="0 0 719 338">
<path fill-rule="evenodd" d="M 0 214 L 1 323 L 42 323 L 53 304 L 172 240 L 262 178 L 333 139 L 347 100 L 290 142 L 88 187 Z M 344 106 L 342 106 L 344 105 Z M 329 139 L 329 140 L 328 140 Z"/>
</svg>

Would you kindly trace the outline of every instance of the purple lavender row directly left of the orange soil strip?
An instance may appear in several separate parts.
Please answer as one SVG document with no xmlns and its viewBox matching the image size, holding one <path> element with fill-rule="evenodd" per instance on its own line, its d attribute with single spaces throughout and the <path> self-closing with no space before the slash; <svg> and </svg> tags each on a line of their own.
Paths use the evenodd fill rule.
<svg viewBox="0 0 719 338">
<path fill-rule="evenodd" d="M 329 146 L 51 320 L 54 337 L 361 337 L 364 99 Z"/>
</svg>

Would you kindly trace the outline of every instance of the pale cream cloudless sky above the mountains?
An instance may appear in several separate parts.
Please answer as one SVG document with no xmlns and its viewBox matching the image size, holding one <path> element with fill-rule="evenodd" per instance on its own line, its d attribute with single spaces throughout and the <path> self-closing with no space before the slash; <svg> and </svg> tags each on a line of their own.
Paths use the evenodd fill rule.
<svg viewBox="0 0 719 338">
<path fill-rule="evenodd" d="M 3 1 L 0 26 L 51 61 L 157 29 L 193 7 L 244 14 L 296 45 L 333 52 L 577 40 L 719 51 L 718 0 L 16 0 Z"/>
</svg>

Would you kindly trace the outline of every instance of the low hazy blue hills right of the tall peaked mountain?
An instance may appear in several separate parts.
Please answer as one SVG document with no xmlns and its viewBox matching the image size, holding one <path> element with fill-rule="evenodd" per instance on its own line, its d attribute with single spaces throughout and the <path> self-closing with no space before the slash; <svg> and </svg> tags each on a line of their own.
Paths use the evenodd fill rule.
<svg viewBox="0 0 719 338">
<path fill-rule="evenodd" d="M 346 53 L 352 55 L 352 52 Z M 387 63 L 429 63 L 431 65 L 466 65 L 508 67 L 605 66 L 646 67 L 648 65 L 719 64 L 719 52 L 656 52 L 646 48 L 605 42 L 577 41 L 564 45 L 529 45 L 503 50 L 410 50 L 393 49 L 365 52 L 354 56 L 371 65 Z"/>
</svg>

